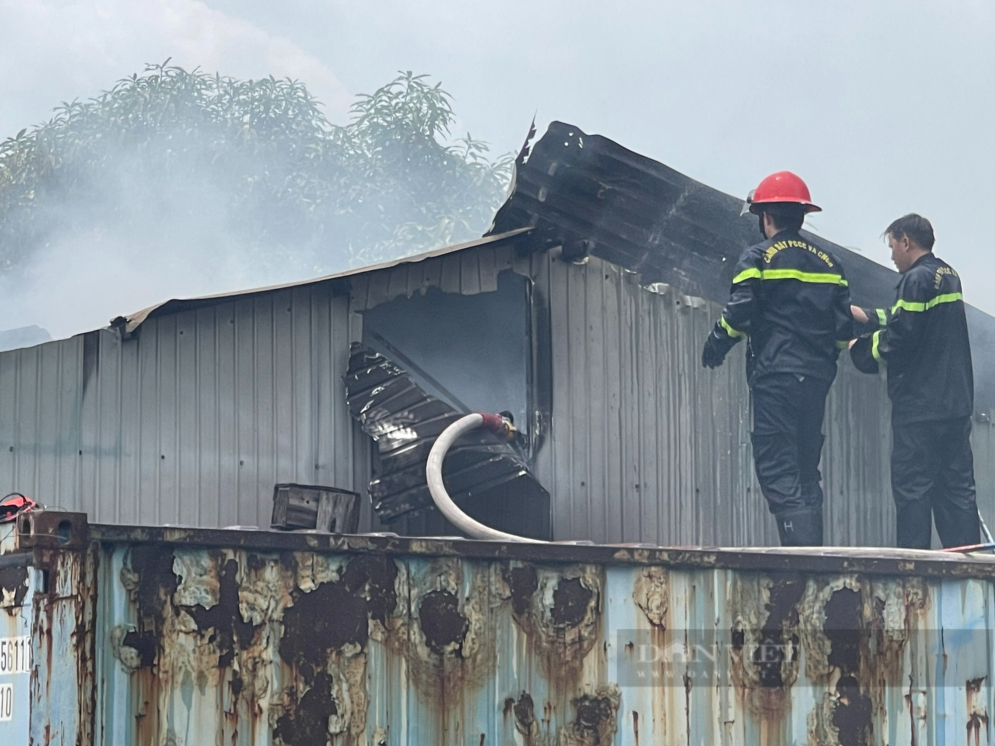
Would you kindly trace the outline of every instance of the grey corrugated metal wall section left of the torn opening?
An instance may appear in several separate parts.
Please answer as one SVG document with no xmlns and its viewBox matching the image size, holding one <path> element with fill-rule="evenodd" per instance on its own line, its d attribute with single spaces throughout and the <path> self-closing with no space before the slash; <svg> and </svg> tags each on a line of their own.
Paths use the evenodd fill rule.
<svg viewBox="0 0 995 746">
<path fill-rule="evenodd" d="M 364 492 L 348 347 L 348 299 L 318 284 L 0 354 L 2 488 L 95 521 L 263 527 L 277 482 Z"/>
</svg>

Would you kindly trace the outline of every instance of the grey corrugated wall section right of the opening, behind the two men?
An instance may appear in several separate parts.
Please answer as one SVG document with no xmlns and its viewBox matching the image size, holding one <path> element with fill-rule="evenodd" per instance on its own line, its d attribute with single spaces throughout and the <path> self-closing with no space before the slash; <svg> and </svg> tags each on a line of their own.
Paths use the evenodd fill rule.
<svg viewBox="0 0 995 746">
<path fill-rule="evenodd" d="M 663 545 L 777 543 L 753 475 L 743 346 L 707 371 L 720 308 L 591 258 L 537 266 L 552 327 L 551 439 L 537 475 L 557 538 Z M 991 426 L 976 425 L 979 502 L 995 516 Z M 894 546 L 883 378 L 841 357 L 822 471 L 827 542 Z"/>
</svg>

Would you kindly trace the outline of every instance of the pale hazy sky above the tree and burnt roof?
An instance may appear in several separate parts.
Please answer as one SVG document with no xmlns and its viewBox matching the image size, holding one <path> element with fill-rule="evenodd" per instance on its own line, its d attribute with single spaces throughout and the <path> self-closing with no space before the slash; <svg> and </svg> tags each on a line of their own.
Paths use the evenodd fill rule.
<svg viewBox="0 0 995 746">
<path fill-rule="evenodd" d="M 0 29 L 0 137 L 166 58 L 297 78 L 339 122 L 411 70 L 497 152 L 534 115 L 734 195 L 795 171 L 824 209 L 809 227 L 888 266 L 882 232 L 918 212 L 995 313 L 995 3 L 0 0 Z"/>
</svg>

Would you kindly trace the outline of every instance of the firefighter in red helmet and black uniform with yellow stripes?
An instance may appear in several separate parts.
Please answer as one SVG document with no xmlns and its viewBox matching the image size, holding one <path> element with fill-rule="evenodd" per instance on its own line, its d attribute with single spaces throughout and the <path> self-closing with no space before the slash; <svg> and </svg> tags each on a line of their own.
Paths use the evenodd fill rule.
<svg viewBox="0 0 995 746">
<path fill-rule="evenodd" d="M 826 396 L 854 336 L 843 266 L 800 234 L 805 216 L 819 210 L 790 171 L 750 193 L 742 214 L 757 216 L 764 240 L 736 263 L 729 300 L 701 353 L 701 364 L 715 368 L 746 340 L 753 462 L 783 546 L 822 545 Z"/>
</svg>

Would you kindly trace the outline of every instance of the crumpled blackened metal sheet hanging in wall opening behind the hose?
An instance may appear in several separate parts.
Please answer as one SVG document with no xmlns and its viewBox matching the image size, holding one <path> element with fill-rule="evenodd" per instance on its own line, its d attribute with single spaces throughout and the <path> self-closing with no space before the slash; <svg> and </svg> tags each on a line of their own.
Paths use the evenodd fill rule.
<svg viewBox="0 0 995 746">
<path fill-rule="evenodd" d="M 405 370 L 356 342 L 345 390 L 349 412 L 377 444 L 379 464 L 370 481 L 370 497 L 380 518 L 389 521 L 433 507 L 425 477 L 429 452 L 435 439 L 468 413 L 427 395 Z M 523 520 L 514 502 L 503 505 L 496 528 L 512 530 L 503 526 L 523 524 L 526 535 L 548 533 L 548 519 L 541 520 L 543 510 L 548 511 L 548 493 L 530 474 L 518 448 L 482 431 L 450 452 L 443 475 L 454 499 L 465 507 L 468 500 L 484 507 L 492 490 L 505 489 L 518 498 L 518 508 L 528 507 Z"/>
</svg>

